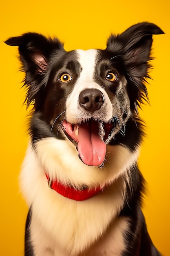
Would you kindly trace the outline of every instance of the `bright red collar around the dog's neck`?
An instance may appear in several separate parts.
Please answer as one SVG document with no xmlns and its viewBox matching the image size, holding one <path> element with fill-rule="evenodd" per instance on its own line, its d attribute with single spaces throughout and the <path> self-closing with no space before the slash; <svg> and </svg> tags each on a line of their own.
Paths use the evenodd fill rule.
<svg viewBox="0 0 170 256">
<path fill-rule="evenodd" d="M 60 195 L 63 195 L 66 198 L 73 199 L 76 201 L 83 201 L 89 198 L 92 198 L 94 195 L 101 192 L 103 189 L 101 187 L 97 187 L 94 189 L 83 189 L 77 190 L 70 186 L 64 186 L 57 180 L 52 180 L 49 178 L 49 175 L 46 174 L 46 178 L 48 180 L 49 187 L 55 190 Z"/>
</svg>

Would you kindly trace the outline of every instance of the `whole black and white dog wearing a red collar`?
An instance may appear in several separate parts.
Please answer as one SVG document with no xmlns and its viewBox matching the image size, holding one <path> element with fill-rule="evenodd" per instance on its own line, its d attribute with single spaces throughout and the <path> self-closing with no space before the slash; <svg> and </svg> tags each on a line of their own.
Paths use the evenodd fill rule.
<svg viewBox="0 0 170 256">
<path fill-rule="evenodd" d="M 5 42 L 19 47 L 33 104 L 20 176 L 26 256 L 160 256 L 137 166 L 152 34 L 163 31 L 143 22 L 111 35 L 104 50 L 71 52 L 36 33 Z"/>
</svg>

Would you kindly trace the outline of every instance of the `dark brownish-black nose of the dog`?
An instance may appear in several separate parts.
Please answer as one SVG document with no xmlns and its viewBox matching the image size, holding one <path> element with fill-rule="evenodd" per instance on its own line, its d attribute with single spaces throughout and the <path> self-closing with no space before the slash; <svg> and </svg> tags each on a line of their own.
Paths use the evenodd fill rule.
<svg viewBox="0 0 170 256">
<path fill-rule="evenodd" d="M 97 89 L 86 89 L 79 94 L 79 104 L 85 110 L 95 112 L 104 103 L 104 95 Z"/>
</svg>

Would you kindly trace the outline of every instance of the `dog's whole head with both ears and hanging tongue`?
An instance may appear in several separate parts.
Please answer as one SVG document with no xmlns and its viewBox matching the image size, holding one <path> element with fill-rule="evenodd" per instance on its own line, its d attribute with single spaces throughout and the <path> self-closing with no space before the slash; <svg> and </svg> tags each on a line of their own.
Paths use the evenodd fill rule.
<svg viewBox="0 0 170 256">
<path fill-rule="evenodd" d="M 163 31 L 143 22 L 111 35 L 104 50 L 71 52 L 58 39 L 36 33 L 7 40 L 19 46 L 27 105 L 33 104 L 41 119 L 33 140 L 67 137 L 85 164 L 102 164 L 106 144 L 117 134 L 125 136 L 126 122 L 135 120 L 148 97 L 152 34 Z"/>
</svg>

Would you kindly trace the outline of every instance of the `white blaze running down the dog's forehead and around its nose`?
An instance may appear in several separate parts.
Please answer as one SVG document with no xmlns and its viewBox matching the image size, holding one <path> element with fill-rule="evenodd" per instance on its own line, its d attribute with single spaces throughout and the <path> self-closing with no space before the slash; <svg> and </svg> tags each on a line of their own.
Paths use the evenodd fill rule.
<svg viewBox="0 0 170 256">
<path fill-rule="evenodd" d="M 95 64 L 97 57 L 96 49 L 76 50 L 77 60 L 81 66 L 81 73 L 78 77 L 73 91 L 66 101 L 66 119 L 68 122 L 75 124 L 79 122 L 80 117 L 84 117 L 84 111 L 79 106 L 79 94 L 86 89 L 98 89 L 104 94 L 105 103 L 103 106 L 104 117 L 103 121 L 108 121 L 112 117 L 112 104 L 106 91 L 94 81 Z"/>
</svg>

